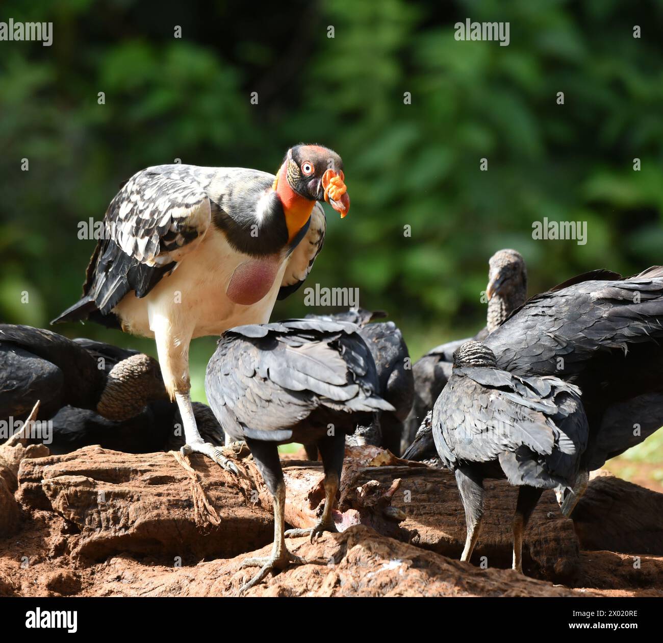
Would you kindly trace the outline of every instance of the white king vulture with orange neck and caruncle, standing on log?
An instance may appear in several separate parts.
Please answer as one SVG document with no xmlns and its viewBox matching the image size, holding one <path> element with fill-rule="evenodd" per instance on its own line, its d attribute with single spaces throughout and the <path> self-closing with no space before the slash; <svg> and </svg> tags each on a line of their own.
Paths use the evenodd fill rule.
<svg viewBox="0 0 663 643">
<path fill-rule="evenodd" d="M 269 321 L 276 299 L 306 279 L 322 248 L 327 201 L 350 206 L 343 161 L 319 145 L 288 150 L 278 175 L 237 167 L 158 165 L 113 198 L 82 299 L 54 320 L 91 319 L 154 337 L 182 415 L 184 453 L 234 465 L 200 437 L 192 411 L 189 343 Z"/>
</svg>

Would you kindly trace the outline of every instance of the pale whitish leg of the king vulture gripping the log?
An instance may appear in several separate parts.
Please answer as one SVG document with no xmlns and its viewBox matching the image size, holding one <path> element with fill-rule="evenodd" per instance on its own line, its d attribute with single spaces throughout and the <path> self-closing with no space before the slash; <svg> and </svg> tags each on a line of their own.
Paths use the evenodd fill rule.
<svg viewBox="0 0 663 643">
<path fill-rule="evenodd" d="M 191 333 L 180 330 L 174 333 L 168 317 L 154 314 L 150 317 L 154 331 L 156 350 L 159 356 L 161 374 L 170 399 L 175 399 L 184 428 L 182 455 L 202 453 L 220 464 L 225 470 L 239 475 L 239 469 L 227 459 L 219 447 L 205 442 L 198 431 L 196 417 L 191 403 L 191 382 L 189 378 L 189 344 Z"/>
</svg>

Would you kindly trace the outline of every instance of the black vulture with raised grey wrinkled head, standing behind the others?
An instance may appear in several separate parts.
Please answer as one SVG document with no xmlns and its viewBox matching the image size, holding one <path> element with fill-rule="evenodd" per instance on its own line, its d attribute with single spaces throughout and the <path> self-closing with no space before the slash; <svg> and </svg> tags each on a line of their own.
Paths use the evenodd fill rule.
<svg viewBox="0 0 663 643">
<path fill-rule="evenodd" d="M 488 265 L 485 328 L 473 338 L 455 340 L 432 348 L 412 367 L 414 403 L 405 421 L 402 445 L 403 457 L 408 460 L 422 461 L 436 456 L 430 433 L 425 434 L 429 438 L 426 441 L 416 440 L 416 433 L 451 376 L 453 351 L 470 339 L 485 339 L 527 297 L 527 268 L 519 252 L 499 250 L 489 259 Z"/>
</svg>

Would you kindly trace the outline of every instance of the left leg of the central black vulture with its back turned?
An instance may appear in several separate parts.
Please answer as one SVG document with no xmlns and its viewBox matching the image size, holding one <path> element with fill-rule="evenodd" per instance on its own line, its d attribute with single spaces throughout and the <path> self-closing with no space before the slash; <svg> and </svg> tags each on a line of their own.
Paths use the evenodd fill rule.
<svg viewBox="0 0 663 643">
<path fill-rule="evenodd" d="M 286 485 L 283 470 L 278 459 L 278 446 L 274 442 L 259 442 L 247 439 L 247 444 L 257 467 L 274 498 L 274 546 L 272 553 L 264 558 L 249 558 L 241 567 L 261 567 L 261 570 L 248 582 L 242 585 L 239 593 L 243 593 L 262 581 L 272 569 L 285 569 L 290 564 L 303 565 L 306 561 L 288 551 L 284 537 Z"/>
</svg>

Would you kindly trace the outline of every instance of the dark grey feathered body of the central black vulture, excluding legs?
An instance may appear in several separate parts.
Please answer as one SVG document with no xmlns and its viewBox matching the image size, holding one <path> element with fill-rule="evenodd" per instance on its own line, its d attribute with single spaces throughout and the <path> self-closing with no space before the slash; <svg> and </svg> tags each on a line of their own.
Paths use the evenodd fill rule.
<svg viewBox="0 0 663 643">
<path fill-rule="evenodd" d="M 206 376 L 208 400 L 223 429 L 237 439 L 284 441 L 320 405 L 392 410 L 375 393 L 375 365 L 356 330 L 307 319 L 225 332 Z"/>
</svg>

